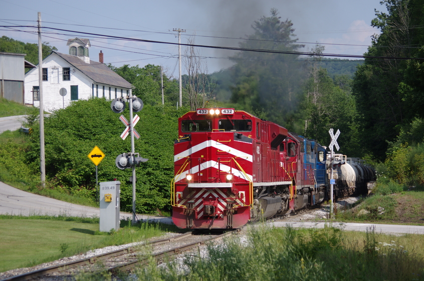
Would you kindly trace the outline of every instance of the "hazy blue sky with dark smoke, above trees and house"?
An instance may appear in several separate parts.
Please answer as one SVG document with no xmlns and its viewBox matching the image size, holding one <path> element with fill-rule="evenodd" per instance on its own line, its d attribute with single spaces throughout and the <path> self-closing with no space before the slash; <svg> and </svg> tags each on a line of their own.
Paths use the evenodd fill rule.
<svg viewBox="0 0 424 281">
<path fill-rule="evenodd" d="M 276 8 L 281 20 L 291 20 L 301 51 L 316 43 L 324 53 L 362 55 L 371 44 L 371 35 L 380 33 L 371 26 L 375 10 L 387 11 L 380 0 L 0 0 L 0 25 L 37 25 L 41 12 L 42 41 L 68 53 L 69 38 L 89 38 L 90 58 L 114 66 L 162 65 L 169 77 L 178 77 L 178 45 L 120 40 L 107 36 L 178 43 L 194 40 L 208 46 L 238 46 L 240 38 L 253 33 L 255 20 L 269 16 Z M 23 30 L 16 31 L 16 30 Z M 34 27 L 0 27 L 0 36 L 38 43 Z M 90 35 L 77 32 L 88 32 Z M 103 35 L 103 36 L 102 36 Z M 181 47 L 184 57 L 186 46 Z M 208 73 L 231 66 L 234 51 L 197 48 L 203 69 Z M 182 65 L 183 74 L 185 65 Z"/>
</svg>

